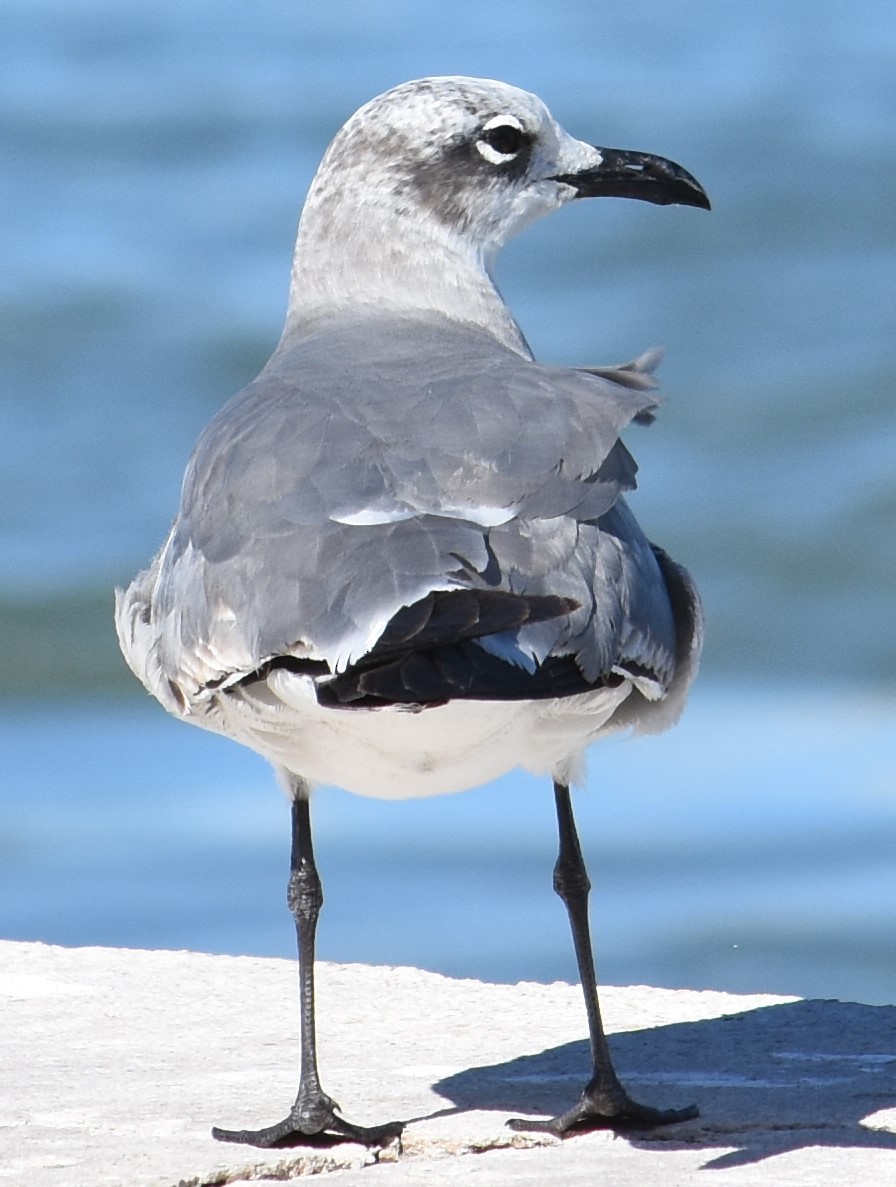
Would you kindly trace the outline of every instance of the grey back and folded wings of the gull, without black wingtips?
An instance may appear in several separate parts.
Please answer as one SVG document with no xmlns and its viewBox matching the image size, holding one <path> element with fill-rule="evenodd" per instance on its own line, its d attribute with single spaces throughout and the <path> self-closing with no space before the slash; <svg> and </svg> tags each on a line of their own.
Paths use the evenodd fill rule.
<svg viewBox="0 0 896 1187">
<path fill-rule="evenodd" d="M 485 654 L 665 690 L 673 610 L 618 437 L 657 404 L 654 363 L 542 367 L 445 323 L 286 339 L 202 436 L 171 537 L 120 608 L 122 646 L 189 704 L 274 658 L 350 668 L 437 592 L 500 592 L 528 605 L 476 611 Z"/>
</svg>

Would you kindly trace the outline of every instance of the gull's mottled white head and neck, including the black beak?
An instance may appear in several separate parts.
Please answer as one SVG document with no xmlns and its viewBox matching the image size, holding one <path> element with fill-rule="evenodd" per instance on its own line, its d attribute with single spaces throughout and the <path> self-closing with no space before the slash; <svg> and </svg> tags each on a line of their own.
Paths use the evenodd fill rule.
<svg viewBox="0 0 896 1187">
<path fill-rule="evenodd" d="M 445 311 L 451 290 L 470 307 L 488 304 L 493 261 L 513 235 L 600 195 L 708 208 L 680 165 L 577 140 L 516 87 L 402 83 L 357 110 L 324 155 L 299 226 L 292 306 Z"/>
</svg>

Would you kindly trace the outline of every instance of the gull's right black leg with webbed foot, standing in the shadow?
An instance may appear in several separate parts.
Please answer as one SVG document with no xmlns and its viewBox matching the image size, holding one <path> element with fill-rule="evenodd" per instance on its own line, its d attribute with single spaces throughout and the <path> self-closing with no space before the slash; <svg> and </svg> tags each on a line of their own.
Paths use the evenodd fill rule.
<svg viewBox="0 0 896 1187">
<path fill-rule="evenodd" d="M 554 783 L 557 821 L 560 831 L 560 851 L 554 865 L 554 890 L 566 904 L 576 946 L 582 991 L 585 995 L 585 1013 L 591 1040 L 591 1079 L 582 1099 L 572 1109 L 549 1121 L 528 1121 L 515 1117 L 508 1124 L 513 1129 L 538 1130 L 565 1137 L 574 1131 L 589 1129 L 650 1129 L 676 1121 L 691 1121 L 698 1116 L 697 1107 L 652 1109 L 640 1105 L 625 1092 L 614 1071 L 610 1048 L 606 1045 L 597 999 L 595 958 L 591 950 L 591 932 L 587 921 L 587 896 L 591 890 L 585 862 L 582 857 L 576 820 L 572 814 L 570 788 Z"/>
</svg>

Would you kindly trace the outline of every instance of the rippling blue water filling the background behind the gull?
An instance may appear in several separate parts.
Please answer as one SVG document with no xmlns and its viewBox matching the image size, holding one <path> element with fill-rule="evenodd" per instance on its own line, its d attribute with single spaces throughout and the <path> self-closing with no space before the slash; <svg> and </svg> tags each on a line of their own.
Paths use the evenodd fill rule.
<svg viewBox="0 0 896 1187">
<path fill-rule="evenodd" d="M 668 349 L 634 506 L 708 635 L 668 737 L 579 811 L 602 975 L 894 1001 L 896 21 L 883 0 L 0 0 L 0 934 L 290 952 L 262 763 L 169 722 L 110 586 L 279 335 L 301 197 L 430 72 L 671 155 L 713 212 L 582 203 L 506 252 L 540 357 Z M 322 953 L 571 977 L 548 789 L 329 789 Z M 329 871 L 329 874 L 328 874 Z"/>
</svg>

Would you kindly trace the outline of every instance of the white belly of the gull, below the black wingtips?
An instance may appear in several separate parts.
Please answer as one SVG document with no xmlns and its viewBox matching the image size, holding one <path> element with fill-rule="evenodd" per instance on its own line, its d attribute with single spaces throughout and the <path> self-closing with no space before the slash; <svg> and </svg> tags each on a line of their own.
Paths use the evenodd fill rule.
<svg viewBox="0 0 896 1187">
<path fill-rule="evenodd" d="M 515 767 L 574 779 L 585 747 L 610 728 L 630 690 L 622 681 L 560 700 L 328 709 L 307 677 L 278 669 L 263 684 L 218 693 L 222 718 L 197 724 L 309 782 L 408 799 L 478 787 Z"/>
</svg>

